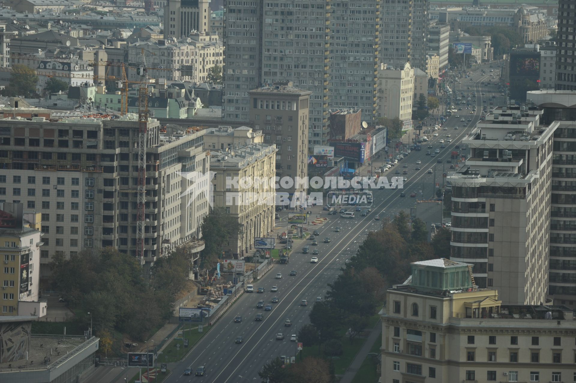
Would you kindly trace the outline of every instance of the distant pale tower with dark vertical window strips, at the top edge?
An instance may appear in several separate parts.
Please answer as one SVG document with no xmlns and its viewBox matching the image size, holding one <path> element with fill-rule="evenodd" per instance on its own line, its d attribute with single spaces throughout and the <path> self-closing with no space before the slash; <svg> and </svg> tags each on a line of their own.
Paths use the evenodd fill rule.
<svg viewBox="0 0 576 383">
<path fill-rule="evenodd" d="M 210 29 L 210 0 L 168 0 L 164 8 L 164 38 L 188 36 Z"/>
</svg>

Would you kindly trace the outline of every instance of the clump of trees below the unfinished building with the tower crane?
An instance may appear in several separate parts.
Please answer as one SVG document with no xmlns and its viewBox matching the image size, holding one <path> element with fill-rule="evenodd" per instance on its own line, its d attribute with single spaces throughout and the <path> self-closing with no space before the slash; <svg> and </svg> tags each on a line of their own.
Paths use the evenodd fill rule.
<svg viewBox="0 0 576 383">
<path fill-rule="evenodd" d="M 172 316 L 172 302 L 184 289 L 191 268 L 186 246 L 156 261 L 143 274 L 139 261 L 115 248 L 84 251 L 51 263 L 53 288 L 60 291 L 76 320 L 94 334 L 113 331 L 149 339 Z M 90 313 L 90 315 L 88 315 Z"/>
</svg>

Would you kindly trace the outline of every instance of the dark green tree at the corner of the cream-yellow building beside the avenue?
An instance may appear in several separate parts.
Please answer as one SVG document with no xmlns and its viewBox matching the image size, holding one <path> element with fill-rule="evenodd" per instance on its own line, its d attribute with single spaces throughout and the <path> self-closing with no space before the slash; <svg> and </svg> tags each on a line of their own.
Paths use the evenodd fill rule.
<svg viewBox="0 0 576 383">
<path fill-rule="evenodd" d="M 203 267 L 212 267 L 222 254 L 225 243 L 244 235 L 243 227 L 223 207 L 214 207 L 202 221 L 202 238 L 206 243 L 201 259 Z"/>
</svg>

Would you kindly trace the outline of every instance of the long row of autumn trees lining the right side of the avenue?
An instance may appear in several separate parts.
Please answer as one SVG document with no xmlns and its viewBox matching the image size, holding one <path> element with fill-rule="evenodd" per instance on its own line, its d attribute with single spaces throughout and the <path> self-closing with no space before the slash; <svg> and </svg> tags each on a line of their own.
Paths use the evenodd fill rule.
<svg viewBox="0 0 576 383">
<path fill-rule="evenodd" d="M 386 287 L 402 283 L 410 275 L 410 263 L 450 255 L 449 230 L 438 230 L 431 244 L 427 238 L 426 224 L 417 218 L 410 225 L 404 211 L 381 230 L 371 232 L 357 255 L 342 269 L 342 274 L 328 284 L 326 297 L 314 303 L 310 324 L 300 328 L 298 341 L 305 346 L 317 345 L 329 360 L 342 354 L 344 346 L 338 334 L 346 329 L 351 341 L 362 332 L 369 324 L 369 317 L 382 306 Z M 317 358 L 309 359 L 321 362 Z M 331 370 L 331 363 L 324 363 L 323 366 Z M 293 380 L 290 371 L 295 366 L 283 369 L 279 360 L 272 361 L 259 374 L 263 383 L 268 379 L 270 383 L 288 383 Z M 313 376 L 321 378 L 317 374 Z M 332 371 L 324 377 L 330 380 L 317 381 L 333 381 Z"/>
</svg>

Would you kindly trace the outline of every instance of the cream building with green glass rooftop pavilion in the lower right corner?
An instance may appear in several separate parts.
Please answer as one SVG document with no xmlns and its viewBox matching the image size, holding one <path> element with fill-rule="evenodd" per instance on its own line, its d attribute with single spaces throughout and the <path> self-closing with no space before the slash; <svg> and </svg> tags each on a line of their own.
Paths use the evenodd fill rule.
<svg viewBox="0 0 576 383">
<path fill-rule="evenodd" d="M 386 291 L 382 374 L 386 383 L 571 382 L 576 321 L 562 305 L 506 305 L 475 289 L 468 263 L 412 263 Z"/>
</svg>

